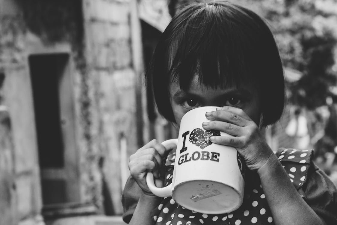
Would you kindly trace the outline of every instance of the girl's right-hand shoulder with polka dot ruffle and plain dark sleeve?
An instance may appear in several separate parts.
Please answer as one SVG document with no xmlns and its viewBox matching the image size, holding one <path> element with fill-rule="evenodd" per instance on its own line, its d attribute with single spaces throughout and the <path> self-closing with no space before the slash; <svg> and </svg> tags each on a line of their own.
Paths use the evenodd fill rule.
<svg viewBox="0 0 337 225">
<path fill-rule="evenodd" d="M 280 148 L 276 155 L 307 204 L 327 224 L 337 224 L 337 190 L 313 159 L 313 150 Z"/>
</svg>

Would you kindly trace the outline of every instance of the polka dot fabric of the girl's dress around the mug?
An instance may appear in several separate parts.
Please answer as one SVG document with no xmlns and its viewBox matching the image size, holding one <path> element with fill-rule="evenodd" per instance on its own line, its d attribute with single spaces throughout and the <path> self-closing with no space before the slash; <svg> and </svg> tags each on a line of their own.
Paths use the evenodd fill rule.
<svg viewBox="0 0 337 225">
<path fill-rule="evenodd" d="M 287 172 L 290 181 L 299 189 L 307 179 L 307 171 L 312 158 L 312 150 L 279 149 L 276 153 Z M 175 153 L 166 161 L 165 184 L 172 182 Z M 261 181 L 252 171 L 245 179 L 245 195 L 240 208 L 229 214 L 202 214 L 178 205 L 171 197 L 166 197 L 151 213 L 157 225 L 207 224 L 207 225 L 267 225 L 274 224 Z"/>
</svg>

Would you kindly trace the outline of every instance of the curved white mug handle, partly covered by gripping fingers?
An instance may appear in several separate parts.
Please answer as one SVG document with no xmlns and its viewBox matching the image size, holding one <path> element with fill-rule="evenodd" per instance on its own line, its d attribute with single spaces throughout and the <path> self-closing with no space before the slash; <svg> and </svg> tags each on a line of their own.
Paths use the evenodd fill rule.
<svg viewBox="0 0 337 225">
<path fill-rule="evenodd" d="M 170 139 L 161 143 L 164 145 L 166 150 L 173 149 L 178 144 L 178 139 Z M 149 187 L 150 191 L 158 197 L 169 197 L 171 196 L 172 183 L 163 188 L 157 188 L 154 184 L 153 173 L 148 172 L 146 174 L 146 184 Z"/>
</svg>

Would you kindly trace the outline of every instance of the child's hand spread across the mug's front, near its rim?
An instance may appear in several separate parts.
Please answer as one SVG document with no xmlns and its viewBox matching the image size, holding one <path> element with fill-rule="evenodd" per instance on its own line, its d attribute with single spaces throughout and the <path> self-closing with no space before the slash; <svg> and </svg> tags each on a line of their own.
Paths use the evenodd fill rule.
<svg viewBox="0 0 337 225">
<path fill-rule="evenodd" d="M 250 170 L 258 170 L 274 155 L 256 123 L 242 109 L 224 106 L 206 113 L 206 117 L 212 121 L 203 123 L 205 130 L 218 130 L 231 135 L 213 136 L 211 141 L 235 147 Z"/>
</svg>

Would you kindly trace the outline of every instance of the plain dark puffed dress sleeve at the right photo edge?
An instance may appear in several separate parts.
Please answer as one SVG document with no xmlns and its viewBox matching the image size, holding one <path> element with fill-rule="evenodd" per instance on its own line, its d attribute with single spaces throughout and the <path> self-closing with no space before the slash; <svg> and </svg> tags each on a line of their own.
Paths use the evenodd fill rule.
<svg viewBox="0 0 337 225">
<path fill-rule="evenodd" d="M 329 224 L 337 224 L 337 191 L 328 176 L 311 162 L 307 182 L 302 187 L 304 200 Z"/>
</svg>

